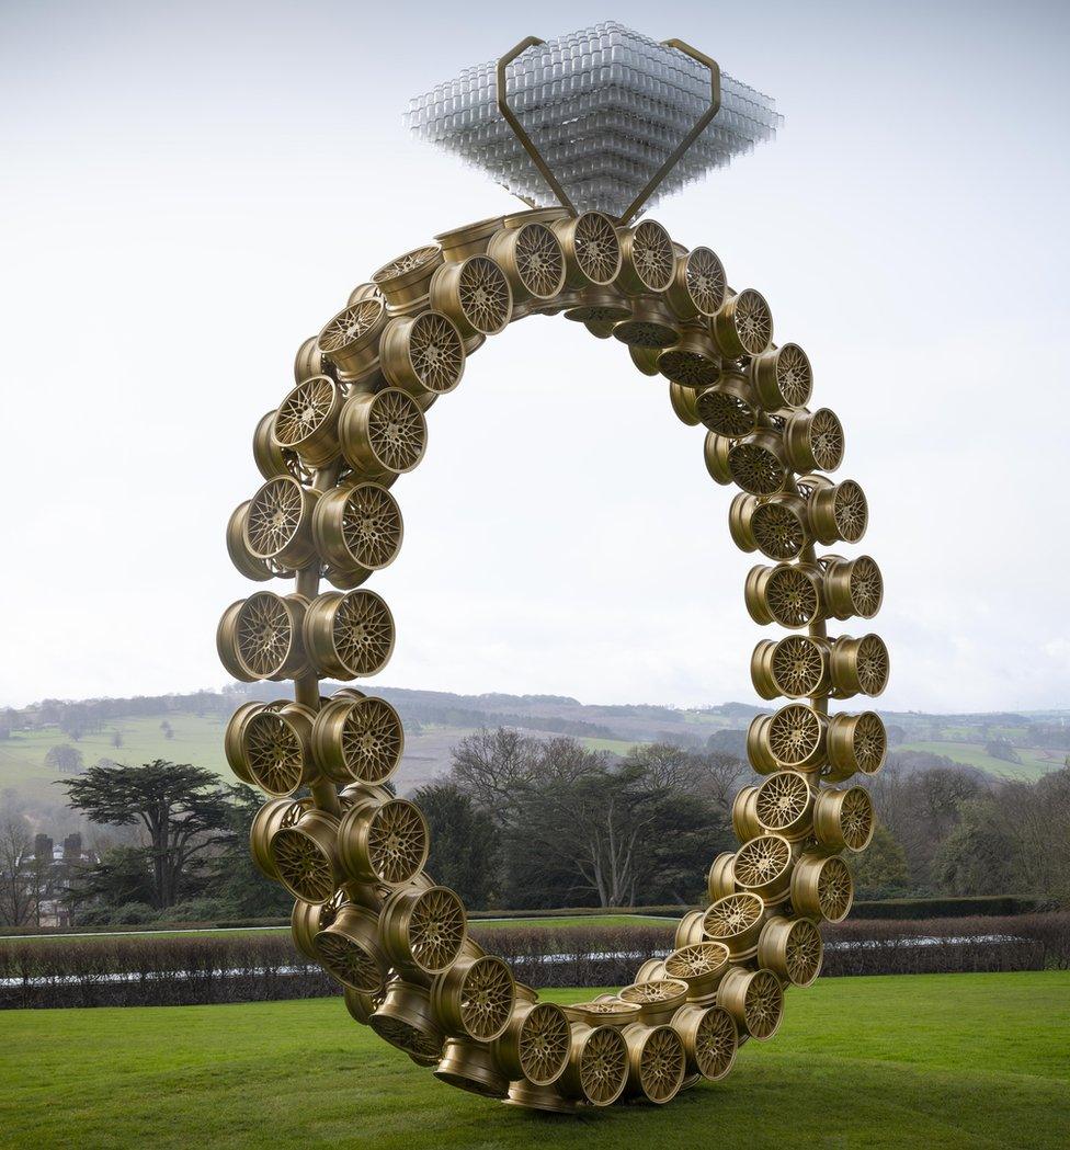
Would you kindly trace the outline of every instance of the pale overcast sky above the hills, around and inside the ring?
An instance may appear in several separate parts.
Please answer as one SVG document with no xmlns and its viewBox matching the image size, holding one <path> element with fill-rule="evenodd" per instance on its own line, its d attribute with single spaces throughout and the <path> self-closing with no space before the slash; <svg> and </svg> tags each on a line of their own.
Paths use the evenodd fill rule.
<svg viewBox="0 0 1070 1150">
<path fill-rule="evenodd" d="M 655 213 L 770 300 L 848 435 L 893 708 L 1070 704 L 1068 7 L 258 0 L 0 6 L 0 700 L 217 687 L 250 437 L 350 289 L 515 206 L 407 99 L 613 17 L 778 100 Z M 702 429 L 560 320 L 489 343 L 395 486 L 381 681 L 755 702 L 754 562 Z M 844 626 L 859 634 L 865 623 Z"/>
</svg>

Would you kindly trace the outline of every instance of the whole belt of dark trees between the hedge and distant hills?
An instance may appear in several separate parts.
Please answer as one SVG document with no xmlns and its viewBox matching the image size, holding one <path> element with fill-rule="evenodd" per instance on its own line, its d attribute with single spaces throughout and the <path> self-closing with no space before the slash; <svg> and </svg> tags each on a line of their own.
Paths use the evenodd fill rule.
<svg viewBox="0 0 1070 1150">
<path fill-rule="evenodd" d="M 472 908 L 691 905 L 713 857 L 737 845 L 740 758 L 667 743 L 622 759 L 570 737 L 507 727 L 453 749 L 449 774 L 415 791 L 428 869 Z M 879 825 L 851 859 L 857 896 L 1040 896 L 1070 905 L 1070 767 L 1035 782 L 892 762 L 859 781 Z M 0 815 L 0 921 L 39 920 L 61 899 L 75 921 L 223 921 L 289 913 L 249 856 L 262 796 L 191 764 L 101 762 L 60 780 L 68 805 L 107 835 L 54 864 L 28 820 Z"/>
</svg>

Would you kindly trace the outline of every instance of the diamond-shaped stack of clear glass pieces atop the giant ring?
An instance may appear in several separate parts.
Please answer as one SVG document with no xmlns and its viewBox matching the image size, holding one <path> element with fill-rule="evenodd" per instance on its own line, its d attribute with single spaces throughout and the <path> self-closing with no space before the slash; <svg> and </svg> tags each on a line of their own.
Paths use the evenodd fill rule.
<svg viewBox="0 0 1070 1150">
<path fill-rule="evenodd" d="M 410 101 L 406 126 L 540 206 L 555 202 L 497 108 L 496 63 Z M 606 21 L 536 45 L 506 68 L 510 106 L 581 210 L 619 215 L 705 112 L 706 69 Z M 721 74 L 721 108 L 651 204 L 772 139 L 773 100 Z"/>
</svg>

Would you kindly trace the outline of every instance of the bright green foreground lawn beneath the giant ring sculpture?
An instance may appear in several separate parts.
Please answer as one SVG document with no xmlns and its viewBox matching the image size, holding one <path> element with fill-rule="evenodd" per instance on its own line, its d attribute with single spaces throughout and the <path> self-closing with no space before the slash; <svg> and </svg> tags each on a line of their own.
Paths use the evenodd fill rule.
<svg viewBox="0 0 1070 1150">
<path fill-rule="evenodd" d="M 590 991 L 563 991 L 558 1000 Z M 375 1150 L 1055 1148 L 1070 973 L 821 980 L 667 1113 L 532 1114 L 458 1092 L 341 1002 L 0 1013 L 5 1147 Z"/>
</svg>

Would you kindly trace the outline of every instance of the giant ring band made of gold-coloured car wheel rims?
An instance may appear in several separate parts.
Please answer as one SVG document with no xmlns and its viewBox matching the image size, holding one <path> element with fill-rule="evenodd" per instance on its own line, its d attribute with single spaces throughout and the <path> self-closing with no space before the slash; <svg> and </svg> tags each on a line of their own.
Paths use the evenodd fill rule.
<svg viewBox="0 0 1070 1150">
<path fill-rule="evenodd" d="M 390 658 L 393 616 L 366 584 L 402 546 L 395 482 L 423 455 L 429 408 L 488 337 L 558 313 L 627 345 L 667 378 L 677 416 L 704 427 L 709 475 L 741 489 L 732 538 L 766 560 L 747 576 L 747 610 L 786 631 L 751 657 L 756 691 L 780 705 L 748 731 L 762 777 L 735 799 L 740 846 L 712 859 L 708 904 L 630 986 L 564 1007 L 486 954 L 460 898 L 427 874 L 423 816 L 387 785 L 404 750 L 393 707 L 352 687 L 320 693 Z M 865 496 L 827 474 L 843 429 L 810 406 L 805 353 L 772 340 L 765 299 L 728 288 L 710 248 L 651 220 L 525 212 L 441 235 L 360 284 L 257 424 L 263 483 L 228 547 L 247 577 L 293 583 L 232 604 L 219 652 L 236 678 L 291 680 L 295 697 L 246 703 L 227 730 L 235 774 L 268 796 L 252 854 L 295 897 L 295 942 L 352 1017 L 451 1086 L 572 1112 L 723 1079 L 741 1043 L 773 1037 L 785 992 L 820 972 L 820 925 L 850 908 L 843 856 L 874 826 L 851 779 L 880 768 L 886 736 L 874 712 L 830 713 L 830 700 L 879 695 L 888 653 L 828 623 L 876 614 L 881 576 L 868 555 L 818 553 L 861 539 Z"/>
</svg>

